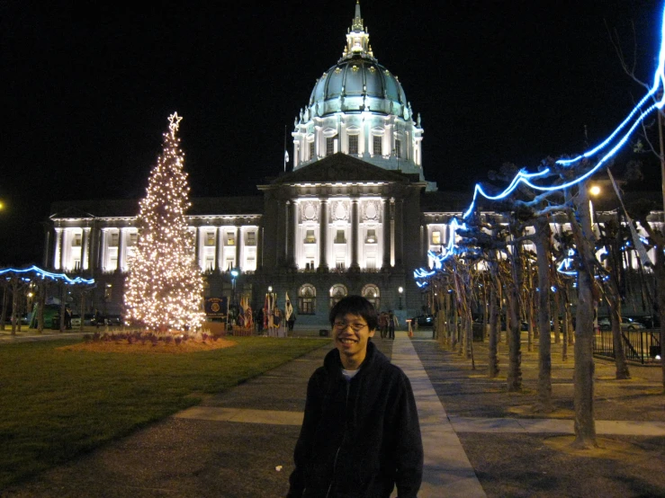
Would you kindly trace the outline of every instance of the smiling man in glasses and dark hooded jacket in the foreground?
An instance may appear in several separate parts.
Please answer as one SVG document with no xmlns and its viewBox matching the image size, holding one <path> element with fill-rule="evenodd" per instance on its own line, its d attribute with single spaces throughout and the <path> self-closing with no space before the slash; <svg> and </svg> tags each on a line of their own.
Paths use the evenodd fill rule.
<svg viewBox="0 0 665 498">
<path fill-rule="evenodd" d="M 311 376 L 288 497 L 415 498 L 423 447 L 409 378 L 371 342 L 378 318 L 348 296 L 330 311 L 336 349 Z"/>
</svg>

